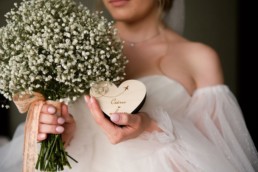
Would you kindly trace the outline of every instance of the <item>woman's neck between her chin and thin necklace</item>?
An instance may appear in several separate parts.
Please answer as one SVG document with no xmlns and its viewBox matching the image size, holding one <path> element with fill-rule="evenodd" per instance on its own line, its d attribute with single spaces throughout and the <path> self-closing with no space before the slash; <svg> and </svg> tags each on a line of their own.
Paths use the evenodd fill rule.
<svg viewBox="0 0 258 172">
<path fill-rule="evenodd" d="M 162 21 L 157 20 L 157 10 L 151 11 L 147 16 L 136 21 L 117 21 L 115 27 L 118 29 L 118 36 L 123 40 L 139 42 L 158 34 Z"/>
</svg>

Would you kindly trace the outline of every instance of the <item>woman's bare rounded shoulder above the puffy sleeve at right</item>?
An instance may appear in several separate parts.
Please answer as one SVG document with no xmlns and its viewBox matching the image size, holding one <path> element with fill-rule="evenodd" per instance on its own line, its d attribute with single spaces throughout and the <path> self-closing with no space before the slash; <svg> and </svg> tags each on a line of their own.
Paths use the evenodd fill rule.
<svg viewBox="0 0 258 172">
<path fill-rule="evenodd" d="M 183 59 L 196 83 L 196 88 L 223 84 L 223 74 L 217 52 L 202 43 L 185 42 Z"/>
</svg>

